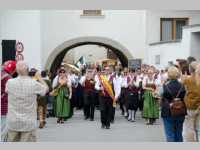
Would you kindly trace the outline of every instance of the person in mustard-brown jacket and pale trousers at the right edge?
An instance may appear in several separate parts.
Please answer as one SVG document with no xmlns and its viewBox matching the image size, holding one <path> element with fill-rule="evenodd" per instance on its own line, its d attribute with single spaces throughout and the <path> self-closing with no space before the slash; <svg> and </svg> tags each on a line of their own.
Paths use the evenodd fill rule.
<svg viewBox="0 0 200 150">
<path fill-rule="evenodd" d="M 200 64 L 193 61 L 189 65 L 190 76 L 182 76 L 187 93 L 185 103 L 187 116 L 184 122 L 184 141 L 197 142 L 200 127 Z"/>
</svg>

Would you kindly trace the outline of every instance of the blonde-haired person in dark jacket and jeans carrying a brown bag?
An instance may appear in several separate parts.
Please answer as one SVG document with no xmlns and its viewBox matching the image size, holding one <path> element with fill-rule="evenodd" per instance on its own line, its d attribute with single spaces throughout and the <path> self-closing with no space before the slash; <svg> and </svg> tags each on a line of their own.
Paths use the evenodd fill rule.
<svg viewBox="0 0 200 150">
<path fill-rule="evenodd" d="M 161 117 L 163 118 L 165 135 L 167 142 L 182 142 L 183 122 L 186 115 L 180 109 L 174 109 L 174 102 L 179 102 L 184 106 L 185 87 L 178 81 L 180 71 L 172 66 L 168 68 L 168 81 L 163 85 L 161 101 Z M 182 109 L 181 109 L 182 110 Z"/>
</svg>

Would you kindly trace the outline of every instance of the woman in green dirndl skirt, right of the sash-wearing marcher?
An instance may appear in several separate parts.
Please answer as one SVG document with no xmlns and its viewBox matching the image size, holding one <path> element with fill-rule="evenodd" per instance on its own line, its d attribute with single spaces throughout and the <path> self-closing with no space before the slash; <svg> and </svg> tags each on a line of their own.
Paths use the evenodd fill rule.
<svg viewBox="0 0 200 150">
<path fill-rule="evenodd" d="M 154 97 L 157 85 L 154 78 L 154 71 L 150 69 L 147 77 L 143 80 L 144 88 L 144 106 L 143 118 L 147 119 L 147 125 L 153 125 L 156 119 L 159 118 L 159 103 Z"/>
</svg>

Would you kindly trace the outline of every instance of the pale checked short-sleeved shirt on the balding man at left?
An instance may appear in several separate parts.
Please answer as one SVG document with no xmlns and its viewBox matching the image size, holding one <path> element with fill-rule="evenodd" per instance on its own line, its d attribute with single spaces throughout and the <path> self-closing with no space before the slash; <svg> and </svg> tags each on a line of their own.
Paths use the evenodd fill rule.
<svg viewBox="0 0 200 150">
<path fill-rule="evenodd" d="M 28 76 L 10 79 L 6 85 L 7 128 L 19 132 L 34 130 L 37 127 L 37 95 L 44 96 L 47 90 Z"/>
</svg>

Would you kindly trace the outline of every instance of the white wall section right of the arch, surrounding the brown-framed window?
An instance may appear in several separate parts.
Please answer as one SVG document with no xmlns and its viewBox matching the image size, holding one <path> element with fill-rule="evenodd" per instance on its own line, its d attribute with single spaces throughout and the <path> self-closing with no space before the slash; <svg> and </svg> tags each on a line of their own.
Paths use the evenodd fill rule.
<svg viewBox="0 0 200 150">
<path fill-rule="evenodd" d="M 191 29 L 184 28 L 182 40 L 175 43 L 150 45 L 160 41 L 160 18 L 189 18 L 189 25 L 200 24 L 200 11 L 147 11 L 146 44 L 147 62 L 158 68 L 165 68 L 169 61 L 186 59 L 191 54 Z M 194 30 L 194 29 L 193 29 Z M 198 31 L 198 29 L 196 29 Z M 196 44 L 197 45 L 197 44 Z M 197 51 L 195 54 L 197 54 Z M 160 65 L 155 64 L 155 56 L 160 55 Z"/>
</svg>

